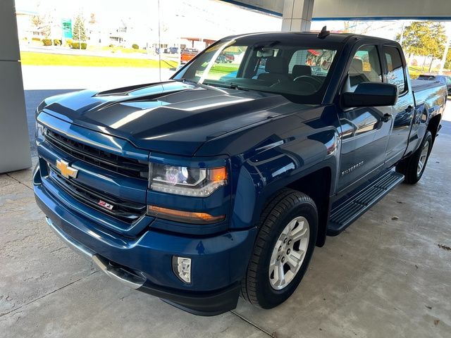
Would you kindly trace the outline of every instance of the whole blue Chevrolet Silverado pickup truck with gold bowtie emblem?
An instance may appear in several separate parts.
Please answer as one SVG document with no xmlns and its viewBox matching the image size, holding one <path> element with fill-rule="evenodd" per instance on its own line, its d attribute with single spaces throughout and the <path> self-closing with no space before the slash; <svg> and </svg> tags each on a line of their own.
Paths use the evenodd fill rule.
<svg viewBox="0 0 451 338">
<path fill-rule="evenodd" d="M 388 39 L 226 37 L 171 80 L 39 104 L 37 204 L 129 287 L 198 315 L 273 308 L 326 236 L 421 178 L 446 97 Z"/>
</svg>

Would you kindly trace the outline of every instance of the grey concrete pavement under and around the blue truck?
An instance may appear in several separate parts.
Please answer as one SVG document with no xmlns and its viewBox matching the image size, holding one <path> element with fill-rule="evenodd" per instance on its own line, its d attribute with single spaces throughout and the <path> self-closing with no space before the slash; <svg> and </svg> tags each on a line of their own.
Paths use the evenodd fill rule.
<svg viewBox="0 0 451 338">
<path fill-rule="evenodd" d="M 0 337 L 450 337 L 451 104 L 422 180 L 316 248 L 293 296 L 202 318 L 109 279 L 44 221 L 31 170 L 0 175 Z"/>
</svg>

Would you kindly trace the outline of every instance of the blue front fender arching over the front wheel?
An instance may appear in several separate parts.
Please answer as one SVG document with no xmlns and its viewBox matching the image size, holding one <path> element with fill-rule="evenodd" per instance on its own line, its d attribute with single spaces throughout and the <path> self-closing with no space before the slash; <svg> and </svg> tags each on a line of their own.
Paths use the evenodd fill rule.
<svg viewBox="0 0 451 338">
<path fill-rule="evenodd" d="M 332 182 L 327 193 L 333 193 L 340 154 L 335 128 L 287 139 L 273 136 L 271 141 L 263 142 L 265 145 L 253 156 L 233 160 L 234 167 L 239 168 L 230 223 L 233 228 L 257 224 L 271 196 L 317 170 L 330 169 Z"/>
</svg>

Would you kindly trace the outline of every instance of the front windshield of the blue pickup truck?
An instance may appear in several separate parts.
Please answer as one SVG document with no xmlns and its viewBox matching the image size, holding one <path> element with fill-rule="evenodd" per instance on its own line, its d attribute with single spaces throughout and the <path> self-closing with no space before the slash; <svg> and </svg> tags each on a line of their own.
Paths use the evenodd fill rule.
<svg viewBox="0 0 451 338">
<path fill-rule="evenodd" d="M 320 40 L 260 41 L 242 38 L 207 48 L 174 80 L 215 87 L 272 92 L 302 103 L 320 104 L 329 81 L 337 46 Z"/>
</svg>

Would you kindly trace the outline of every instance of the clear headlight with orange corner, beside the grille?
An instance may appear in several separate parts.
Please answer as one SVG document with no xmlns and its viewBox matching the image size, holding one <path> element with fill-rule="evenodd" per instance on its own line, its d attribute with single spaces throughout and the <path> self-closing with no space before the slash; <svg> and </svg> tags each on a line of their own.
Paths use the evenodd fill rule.
<svg viewBox="0 0 451 338">
<path fill-rule="evenodd" d="M 150 163 L 149 188 L 156 192 L 206 197 L 226 184 L 226 167 L 187 168 Z"/>
</svg>

